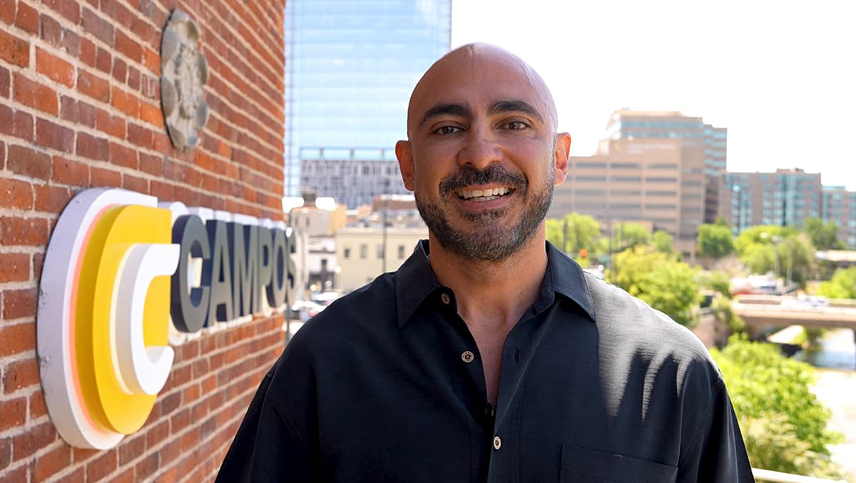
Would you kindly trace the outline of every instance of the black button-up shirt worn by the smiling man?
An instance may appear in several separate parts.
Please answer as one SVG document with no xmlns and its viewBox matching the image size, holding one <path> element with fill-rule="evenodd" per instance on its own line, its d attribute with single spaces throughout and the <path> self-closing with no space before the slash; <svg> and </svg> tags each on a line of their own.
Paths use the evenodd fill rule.
<svg viewBox="0 0 856 483">
<path fill-rule="evenodd" d="M 698 338 L 550 243 L 491 408 L 479 349 L 427 252 L 420 242 L 298 331 L 218 481 L 754 481 Z"/>
</svg>

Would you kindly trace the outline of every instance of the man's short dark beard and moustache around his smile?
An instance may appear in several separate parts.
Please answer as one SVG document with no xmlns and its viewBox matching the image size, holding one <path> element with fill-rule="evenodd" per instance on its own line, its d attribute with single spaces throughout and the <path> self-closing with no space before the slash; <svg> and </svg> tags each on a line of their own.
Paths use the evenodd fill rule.
<svg viewBox="0 0 856 483">
<path fill-rule="evenodd" d="M 451 253 L 464 259 L 479 261 L 501 261 L 518 252 L 526 242 L 532 239 L 538 226 L 547 216 L 550 202 L 553 200 L 553 164 L 550 163 L 550 176 L 544 185 L 530 186 L 526 176 L 513 173 L 498 164 L 490 164 L 484 170 L 476 170 L 464 165 L 454 175 L 440 182 L 440 201 L 425 200 L 415 194 L 419 215 L 428 225 L 428 230 L 437 238 L 437 242 Z M 457 196 L 456 191 L 467 186 L 497 183 L 514 188 L 515 196 L 523 200 L 523 212 L 520 220 L 510 228 L 499 221 L 508 215 L 511 207 L 470 212 L 464 218 L 470 222 L 467 230 L 456 230 L 449 224 L 450 199 Z M 446 205 L 444 208 L 441 205 Z"/>
</svg>

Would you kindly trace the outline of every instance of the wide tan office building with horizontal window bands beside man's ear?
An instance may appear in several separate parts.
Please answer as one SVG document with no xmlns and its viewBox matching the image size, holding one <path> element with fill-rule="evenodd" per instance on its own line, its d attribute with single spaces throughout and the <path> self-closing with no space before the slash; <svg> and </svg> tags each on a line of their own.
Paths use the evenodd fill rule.
<svg viewBox="0 0 856 483">
<path fill-rule="evenodd" d="M 591 215 L 604 230 L 650 223 L 692 253 L 704 215 L 704 147 L 680 138 L 603 140 L 593 156 L 570 158 L 548 216 L 568 212 Z"/>
</svg>

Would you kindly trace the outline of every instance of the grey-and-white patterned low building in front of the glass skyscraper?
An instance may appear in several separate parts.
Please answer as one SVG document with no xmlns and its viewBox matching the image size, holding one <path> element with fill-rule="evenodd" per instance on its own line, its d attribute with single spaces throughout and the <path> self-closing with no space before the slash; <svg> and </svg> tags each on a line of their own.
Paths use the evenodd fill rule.
<svg viewBox="0 0 856 483">
<path fill-rule="evenodd" d="M 304 148 L 300 184 L 319 196 L 356 208 L 381 194 L 408 194 L 392 149 Z M 393 159 L 390 158 L 390 154 Z"/>
</svg>

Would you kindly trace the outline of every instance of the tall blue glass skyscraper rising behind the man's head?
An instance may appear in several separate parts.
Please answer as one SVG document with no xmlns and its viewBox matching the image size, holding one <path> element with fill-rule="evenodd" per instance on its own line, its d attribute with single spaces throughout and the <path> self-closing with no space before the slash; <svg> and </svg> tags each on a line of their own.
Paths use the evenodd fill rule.
<svg viewBox="0 0 856 483">
<path fill-rule="evenodd" d="M 450 42 L 451 0 L 287 2 L 285 195 L 301 152 L 394 159 L 410 92 Z"/>
</svg>

